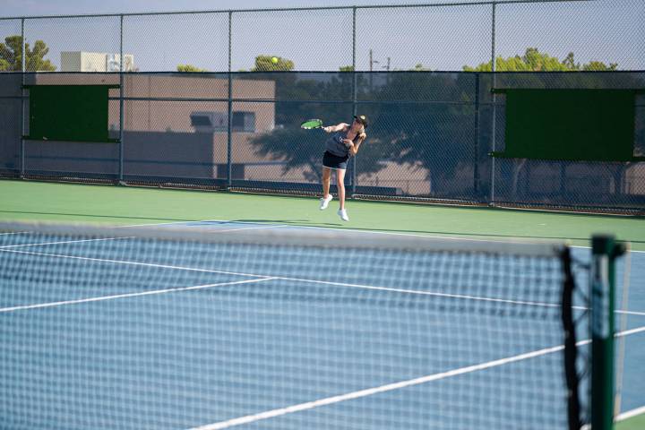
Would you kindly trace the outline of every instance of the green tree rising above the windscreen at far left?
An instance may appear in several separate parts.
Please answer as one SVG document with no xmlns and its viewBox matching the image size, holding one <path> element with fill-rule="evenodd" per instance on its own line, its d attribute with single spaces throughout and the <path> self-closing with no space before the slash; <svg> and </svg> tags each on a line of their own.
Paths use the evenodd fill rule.
<svg viewBox="0 0 645 430">
<path fill-rule="evenodd" d="M 56 66 L 45 59 L 49 48 L 42 40 L 36 40 L 34 47 L 25 43 L 25 70 L 28 72 L 54 72 Z M 22 37 L 8 36 L 0 43 L 0 71 L 22 71 Z"/>
</svg>

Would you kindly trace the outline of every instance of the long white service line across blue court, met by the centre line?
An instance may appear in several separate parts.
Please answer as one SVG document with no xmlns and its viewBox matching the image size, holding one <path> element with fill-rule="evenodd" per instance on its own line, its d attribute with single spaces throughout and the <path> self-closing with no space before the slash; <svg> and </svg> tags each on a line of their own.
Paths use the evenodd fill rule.
<svg viewBox="0 0 645 430">
<path fill-rule="evenodd" d="M 389 292 L 395 292 L 395 293 L 415 294 L 415 295 L 419 295 L 419 296 L 463 298 L 463 299 L 478 300 L 478 301 L 485 301 L 485 302 L 506 303 L 506 304 L 511 304 L 511 305 L 533 305 L 533 306 L 542 306 L 542 307 L 558 307 L 559 306 L 557 304 L 544 303 L 544 302 L 529 302 L 529 301 L 521 301 L 521 300 L 510 300 L 510 299 L 504 299 L 504 298 L 496 298 L 496 297 L 479 297 L 479 296 L 469 296 L 469 295 L 460 295 L 460 294 L 439 293 L 439 292 L 433 292 L 433 291 L 422 291 L 422 290 L 414 290 L 414 289 L 378 287 L 378 286 L 373 286 L 373 285 L 350 284 L 350 283 L 346 283 L 346 282 L 335 282 L 335 281 L 331 281 L 331 280 L 307 280 L 307 279 L 302 279 L 302 278 L 291 278 L 291 277 L 274 276 L 274 275 L 260 275 L 260 274 L 255 274 L 255 273 L 242 273 L 242 272 L 236 272 L 236 271 L 216 271 L 216 270 L 212 270 L 212 269 L 197 269 L 197 268 L 183 267 L 183 266 L 171 266 L 171 265 L 167 265 L 167 264 L 155 264 L 155 263 L 151 263 L 151 262 L 129 262 L 129 261 L 125 261 L 125 260 L 109 260 L 109 259 L 103 259 L 103 258 L 79 257 L 79 256 L 75 256 L 75 255 L 64 255 L 64 254 L 36 253 L 36 252 L 31 252 L 31 251 L 17 251 L 17 250 L 10 250 L 10 249 L 0 249 L 0 252 L 13 253 L 13 254 L 40 255 L 40 256 L 57 257 L 57 258 L 70 258 L 70 259 L 73 259 L 73 260 L 82 260 L 82 261 L 90 261 L 90 262 L 109 262 L 109 263 L 117 263 L 117 264 L 130 264 L 130 265 L 135 265 L 135 266 L 159 267 L 159 268 L 162 268 L 162 269 L 174 269 L 174 270 L 180 270 L 180 271 L 201 271 L 201 272 L 208 272 L 208 273 L 219 273 L 219 274 L 226 274 L 226 275 L 247 276 L 247 277 L 254 277 L 254 278 L 271 278 L 273 280 L 288 280 L 288 281 L 296 281 L 296 282 L 307 282 L 307 283 L 313 283 L 313 284 L 333 285 L 335 287 L 373 289 L 373 290 L 378 290 L 378 291 L 389 291 Z M 588 308 L 583 307 L 583 306 L 573 306 L 573 308 L 574 309 L 579 309 L 579 310 L 588 310 Z M 616 314 L 632 314 L 632 315 L 645 316 L 645 312 L 617 310 L 617 311 L 615 311 L 615 313 Z"/>
</svg>

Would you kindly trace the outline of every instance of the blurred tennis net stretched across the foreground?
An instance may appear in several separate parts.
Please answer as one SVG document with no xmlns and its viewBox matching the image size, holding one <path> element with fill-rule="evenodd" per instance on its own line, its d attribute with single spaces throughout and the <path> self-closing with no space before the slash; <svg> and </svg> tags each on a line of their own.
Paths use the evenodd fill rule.
<svg viewBox="0 0 645 430">
<path fill-rule="evenodd" d="M 573 428 L 568 255 L 0 224 L 0 427 Z"/>
</svg>

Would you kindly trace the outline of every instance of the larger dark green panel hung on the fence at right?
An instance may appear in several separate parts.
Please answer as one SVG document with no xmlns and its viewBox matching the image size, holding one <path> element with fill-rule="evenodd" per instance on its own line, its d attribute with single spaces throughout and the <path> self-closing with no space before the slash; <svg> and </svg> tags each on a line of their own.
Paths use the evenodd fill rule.
<svg viewBox="0 0 645 430">
<path fill-rule="evenodd" d="M 493 90 L 506 94 L 506 149 L 517 159 L 632 161 L 639 90 Z"/>
</svg>

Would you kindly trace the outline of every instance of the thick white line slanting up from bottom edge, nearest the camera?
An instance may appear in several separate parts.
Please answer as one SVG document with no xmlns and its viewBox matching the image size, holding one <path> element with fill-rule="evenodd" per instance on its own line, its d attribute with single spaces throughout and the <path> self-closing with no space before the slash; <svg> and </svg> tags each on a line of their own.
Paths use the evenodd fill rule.
<svg viewBox="0 0 645 430">
<path fill-rule="evenodd" d="M 633 334 L 635 332 L 640 332 L 640 331 L 645 331 L 645 326 L 642 326 L 638 329 L 633 329 L 632 331 L 623 331 L 621 333 L 617 333 L 616 336 L 628 336 L 629 334 Z M 583 345 L 588 345 L 589 343 L 591 343 L 591 340 L 580 340 L 576 342 L 576 346 L 580 347 Z M 307 409 L 320 408 L 322 406 L 339 403 L 345 400 L 360 399 L 363 397 L 379 394 L 386 391 L 398 390 L 401 388 L 406 388 L 406 387 L 418 385 L 421 383 L 429 383 L 429 382 L 437 381 L 444 378 L 450 378 L 452 376 L 457 376 L 460 374 L 469 374 L 480 370 L 490 369 L 492 367 L 503 366 L 517 361 L 527 360 L 529 358 L 545 356 L 546 354 L 553 354 L 554 352 L 561 351 L 563 349 L 564 349 L 563 345 L 559 345 L 557 347 L 551 347 L 551 348 L 538 349 L 536 351 L 527 352 L 517 356 L 500 358 L 498 360 L 488 361 L 486 363 L 481 363 L 473 366 L 460 367 L 458 369 L 449 370 L 447 372 L 442 372 L 439 374 L 428 374 L 426 376 L 421 376 L 415 379 L 409 379 L 407 381 L 388 383 L 385 385 L 381 385 L 379 387 L 368 388 L 366 390 L 352 391 L 345 394 L 340 394 L 338 396 L 332 396 L 324 399 L 308 401 L 306 403 L 299 403 L 297 405 L 291 405 L 286 408 L 266 410 L 258 414 L 247 415 L 245 417 L 236 417 L 236 418 L 228 419 L 227 421 L 220 421 L 219 423 L 213 423 L 206 426 L 194 427 L 193 430 L 220 430 L 223 428 L 240 426 L 242 424 L 254 423 L 257 421 L 261 421 L 263 419 L 280 417 L 287 414 L 293 414 L 295 412 L 301 412 Z"/>
</svg>

